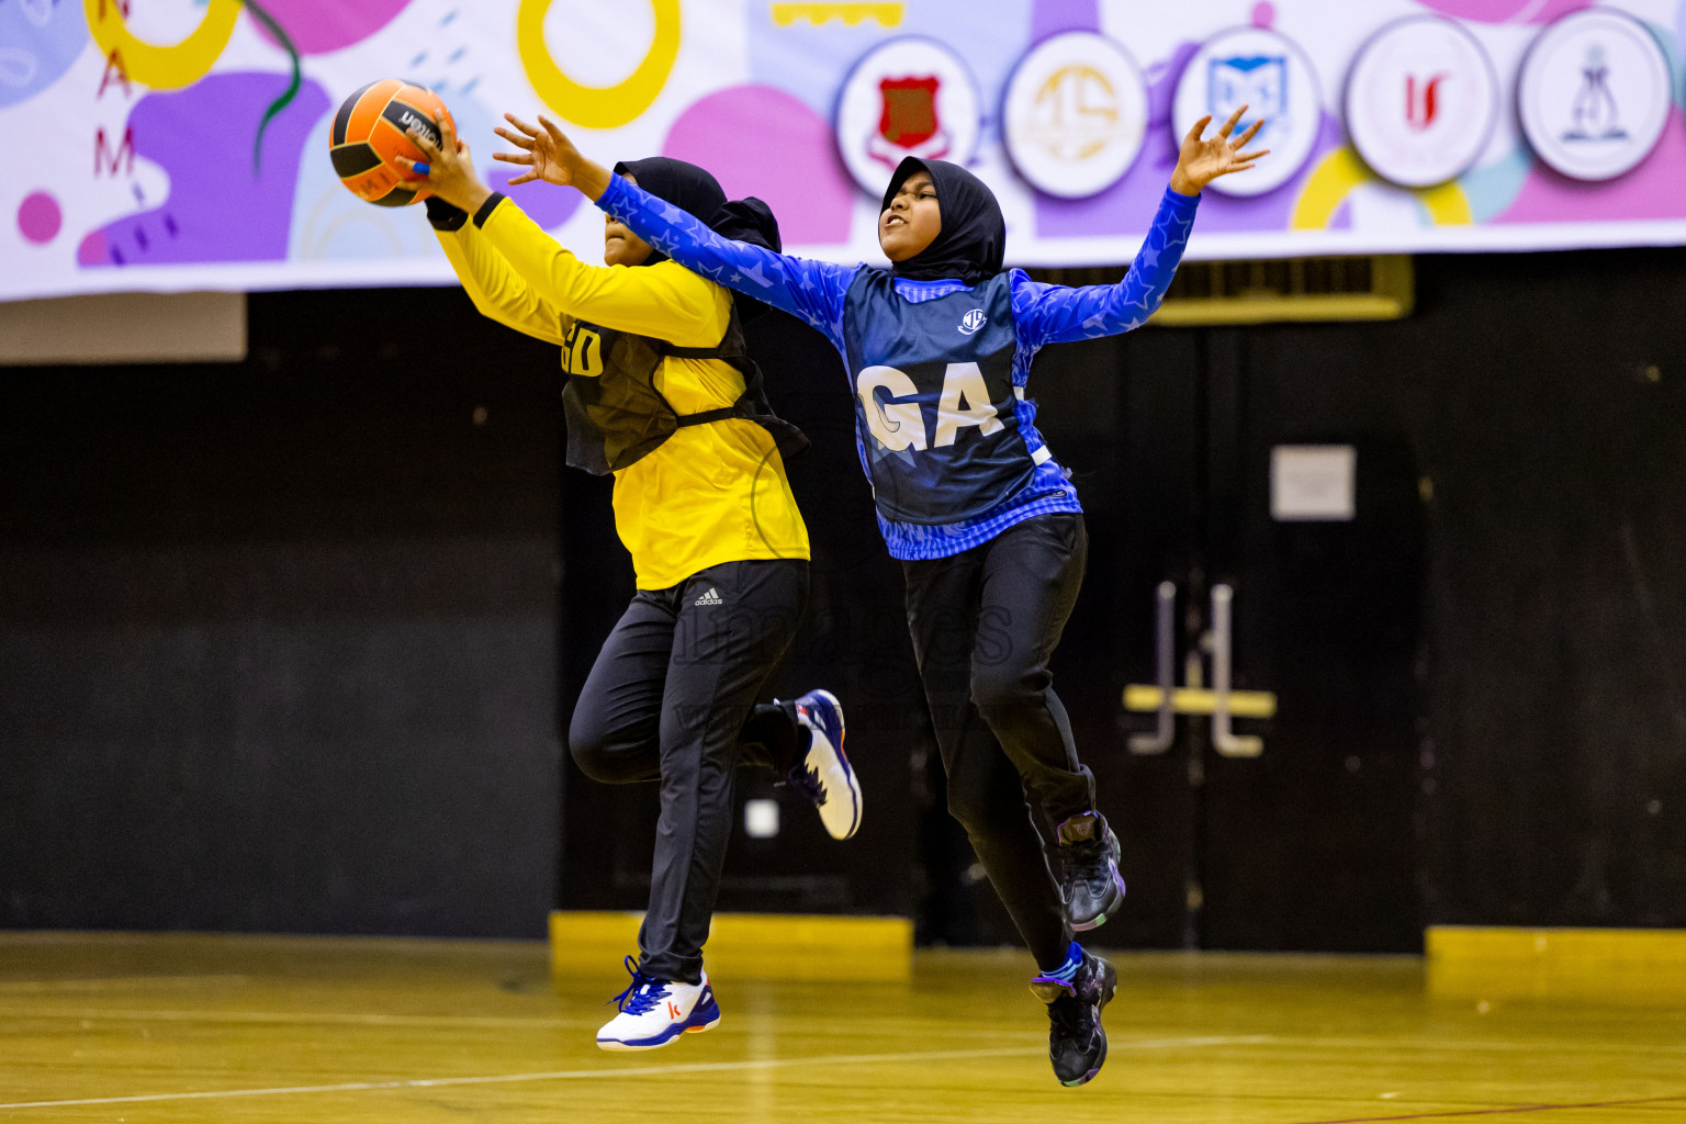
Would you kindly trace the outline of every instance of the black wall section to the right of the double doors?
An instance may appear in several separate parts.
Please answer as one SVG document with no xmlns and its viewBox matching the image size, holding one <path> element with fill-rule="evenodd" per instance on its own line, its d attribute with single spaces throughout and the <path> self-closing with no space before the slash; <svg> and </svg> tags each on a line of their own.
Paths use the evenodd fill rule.
<svg viewBox="0 0 1686 1124">
<path fill-rule="evenodd" d="M 1686 925 L 1686 253 L 1428 260 L 1420 300 L 1268 362 L 1372 379 L 1431 482 L 1425 918 Z"/>
</svg>

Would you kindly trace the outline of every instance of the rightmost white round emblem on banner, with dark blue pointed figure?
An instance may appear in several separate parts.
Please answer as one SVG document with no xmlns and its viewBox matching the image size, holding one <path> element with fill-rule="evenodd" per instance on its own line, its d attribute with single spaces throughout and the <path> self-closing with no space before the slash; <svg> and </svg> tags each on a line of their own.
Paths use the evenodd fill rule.
<svg viewBox="0 0 1686 1124">
<path fill-rule="evenodd" d="M 1522 133 L 1549 167 L 1576 180 L 1615 179 L 1662 138 L 1669 59 L 1632 15 L 1575 12 L 1528 49 L 1516 99 Z"/>
</svg>

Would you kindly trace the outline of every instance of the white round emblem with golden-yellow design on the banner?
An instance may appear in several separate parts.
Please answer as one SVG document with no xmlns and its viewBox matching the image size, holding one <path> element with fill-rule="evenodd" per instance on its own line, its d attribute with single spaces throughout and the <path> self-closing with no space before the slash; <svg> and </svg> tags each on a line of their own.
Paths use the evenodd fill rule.
<svg viewBox="0 0 1686 1124">
<path fill-rule="evenodd" d="M 1106 35 L 1067 32 L 1035 45 L 1001 99 L 1007 155 L 1030 185 L 1060 199 L 1106 190 L 1141 155 L 1148 86 Z"/>
</svg>

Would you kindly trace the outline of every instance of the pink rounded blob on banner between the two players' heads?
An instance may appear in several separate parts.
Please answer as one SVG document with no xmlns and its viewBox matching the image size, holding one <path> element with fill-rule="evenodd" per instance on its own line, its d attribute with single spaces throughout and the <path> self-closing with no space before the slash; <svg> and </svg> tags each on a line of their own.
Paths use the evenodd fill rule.
<svg viewBox="0 0 1686 1124">
<path fill-rule="evenodd" d="M 703 98 L 673 123 L 661 152 L 708 169 L 732 199 L 764 199 L 787 246 L 848 241 L 855 180 L 831 126 L 782 89 L 733 86 Z"/>
</svg>

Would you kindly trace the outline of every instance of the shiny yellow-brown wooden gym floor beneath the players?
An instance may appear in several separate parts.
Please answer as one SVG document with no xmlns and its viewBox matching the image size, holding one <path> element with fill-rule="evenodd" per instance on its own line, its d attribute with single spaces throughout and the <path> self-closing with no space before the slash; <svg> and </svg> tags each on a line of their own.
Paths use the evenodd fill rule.
<svg viewBox="0 0 1686 1124">
<path fill-rule="evenodd" d="M 1010 952 L 921 952 L 910 984 L 717 979 L 715 1031 L 612 1055 L 620 969 L 553 984 L 536 942 L 10 934 L 0 1121 L 1686 1121 L 1679 979 L 1118 966 L 1106 1068 L 1062 1089 Z"/>
</svg>

